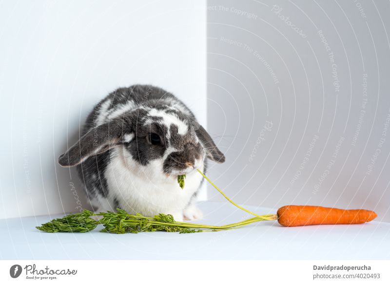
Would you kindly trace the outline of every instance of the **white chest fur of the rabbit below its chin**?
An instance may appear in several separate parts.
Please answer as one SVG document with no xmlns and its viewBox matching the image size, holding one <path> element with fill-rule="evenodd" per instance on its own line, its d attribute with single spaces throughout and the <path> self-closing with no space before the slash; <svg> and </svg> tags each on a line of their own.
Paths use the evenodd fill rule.
<svg viewBox="0 0 390 284">
<path fill-rule="evenodd" d="M 138 212 L 151 217 L 165 213 L 174 215 L 177 220 L 182 219 L 183 210 L 199 188 L 202 176 L 196 170 L 188 173 L 184 189 L 181 189 L 176 177 L 162 173 L 161 161 L 154 160 L 147 166 L 140 166 L 123 148 L 114 151 L 116 158 L 104 172 L 109 202 L 117 199 L 120 208 L 129 213 Z"/>
</svg>

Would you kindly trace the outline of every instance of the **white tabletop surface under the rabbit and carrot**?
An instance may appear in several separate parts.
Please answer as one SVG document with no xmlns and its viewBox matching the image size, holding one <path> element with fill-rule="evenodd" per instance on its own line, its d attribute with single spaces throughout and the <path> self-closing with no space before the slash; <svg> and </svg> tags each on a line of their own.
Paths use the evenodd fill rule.
<svg viewBox="0 0 390 284">
<path fill-rule="evenodd" d="M 226 225 L 251 218 L 229 203 L 199 204 L 197 223 Z M 259 214 L 275 209 L 246 206 Z M 179 234 L 45 233 L 56 216 L 0 220 L 1 259 L 390 259 L 390 223 L 281 227 L 265 221 L 228 231 Z"/>
</svg>

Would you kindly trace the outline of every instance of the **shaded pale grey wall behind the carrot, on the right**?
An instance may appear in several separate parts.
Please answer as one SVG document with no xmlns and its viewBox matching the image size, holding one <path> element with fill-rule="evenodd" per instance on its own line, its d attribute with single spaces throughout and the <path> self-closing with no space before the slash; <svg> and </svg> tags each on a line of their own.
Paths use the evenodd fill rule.
<svg viewBox="0 0 390 284">
<path fill-rule="evenodd" d="M 226 152 L 210 178 L 236 202 L 390 222 L 390 2 L 208 6 L 209 130 Z"/>
</svg>

